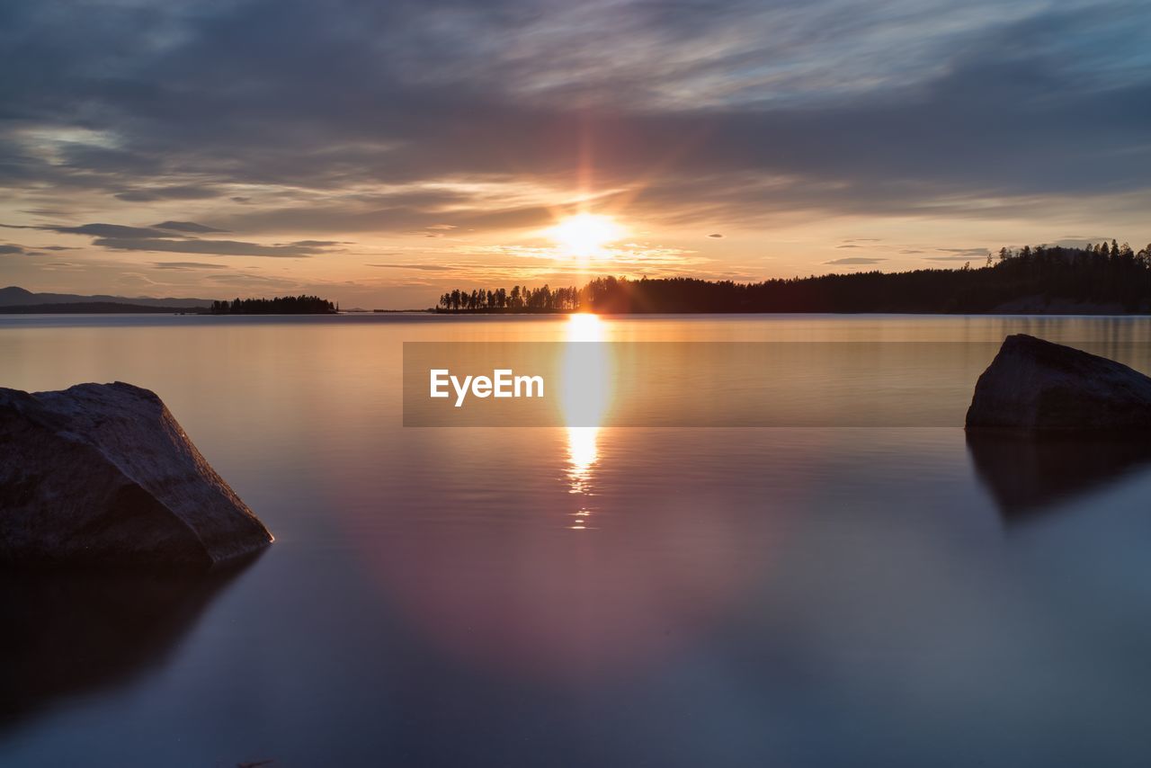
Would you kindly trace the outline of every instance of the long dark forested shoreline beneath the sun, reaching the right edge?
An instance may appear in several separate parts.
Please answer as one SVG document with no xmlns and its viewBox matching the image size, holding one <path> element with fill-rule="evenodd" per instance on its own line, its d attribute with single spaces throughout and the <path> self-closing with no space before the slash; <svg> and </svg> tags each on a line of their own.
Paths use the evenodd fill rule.
<svg viewBox="0 0 1151 768">
<path fill-rule="evenodd" d="M 1026 245 L 978 266 L 813 275 L 760 283 L 599 277 L 582 288 L 453 290 L 440 312 L 993 312 L 1080 305 L 1151 311 L 1151 245 Z"/>
</svg>

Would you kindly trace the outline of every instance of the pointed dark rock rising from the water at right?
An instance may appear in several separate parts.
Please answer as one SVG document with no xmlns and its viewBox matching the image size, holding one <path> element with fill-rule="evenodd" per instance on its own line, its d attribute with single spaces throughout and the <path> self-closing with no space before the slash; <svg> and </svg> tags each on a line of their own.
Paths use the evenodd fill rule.
<svg viewBox="0 0 1151 768">
<path fill-rule="evenodd" d="M 975 385 L 967 427 L 1151 429 L 1151 378 L 1035 336 L 1007 336 Z"/>
</svg>

